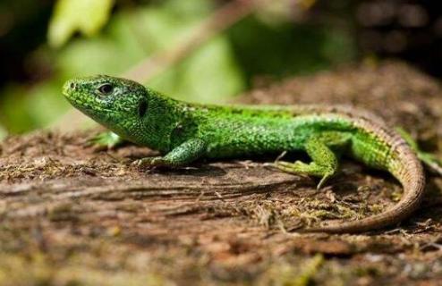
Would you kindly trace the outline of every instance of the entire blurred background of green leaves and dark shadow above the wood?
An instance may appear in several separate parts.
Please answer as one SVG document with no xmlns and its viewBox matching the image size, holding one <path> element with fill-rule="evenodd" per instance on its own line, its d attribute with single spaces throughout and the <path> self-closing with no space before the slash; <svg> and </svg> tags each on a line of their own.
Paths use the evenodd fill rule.
<svg viewBox="0 0 442 286">
<path fill-rule="evenodd" d="M 442 74 L 438 1 L 251 3 L 2 0 L 0 138 L 88 125 L 61 87 L 90 74 L 130 75 L 172 97 L 212 103 L 293 75 L 387 57 Z"/>
</svg>

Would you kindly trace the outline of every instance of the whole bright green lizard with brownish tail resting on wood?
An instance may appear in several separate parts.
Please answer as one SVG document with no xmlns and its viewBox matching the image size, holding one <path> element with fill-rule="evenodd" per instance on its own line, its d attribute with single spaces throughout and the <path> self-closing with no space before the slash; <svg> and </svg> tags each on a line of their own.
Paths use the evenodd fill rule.
<svg viewBox="0 0 442 286">
<path fill-rule="evenodd" d="M 438 168 L 438 162 L 410 139 L 407 142 L 378 117 L 353 107 L 189 104 L 109 76 L 69 80 L 64 96 L 120 138 L 164 155 L 142 158 L 137 161 L 140 165 L 177 167 L 202 157 L 302 150 L 310 163 L 276 160 L 275 167 L 319 177 L 320 188 L 336 174 L 343 154 L 390 172 L 404 187 L 403 198 L 381 214 L 304 231 L 361 232 L 399 223 L 420 205 L 425 186 L 421 160 Z M 101 140 L 116 143 L 119 137 Z"/>
</svg>

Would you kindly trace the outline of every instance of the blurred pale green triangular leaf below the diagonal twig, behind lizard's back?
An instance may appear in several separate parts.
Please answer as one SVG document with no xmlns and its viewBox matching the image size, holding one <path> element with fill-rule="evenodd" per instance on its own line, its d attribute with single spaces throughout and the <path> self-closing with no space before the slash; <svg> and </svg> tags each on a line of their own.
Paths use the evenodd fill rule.
<svg viewBox="0 0 442 286">
<path fill-rule="evenodd" d="M 241 92 L 245 80 L 229 42 L 217 36 L 183 63 L 149 80 L 148 85 L 186 101 L 222 103 Z"/>
</svg>

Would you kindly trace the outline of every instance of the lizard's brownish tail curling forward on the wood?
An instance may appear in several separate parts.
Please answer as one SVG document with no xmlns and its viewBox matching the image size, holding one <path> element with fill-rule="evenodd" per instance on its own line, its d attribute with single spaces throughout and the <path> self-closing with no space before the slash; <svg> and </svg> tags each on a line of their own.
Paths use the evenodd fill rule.
<svg viewBox="0 0 442 286">
<path fill-rule="evenodd" d="M 425 187 L 425 175 L 421 161 L 405 143 L 403 139 L 392 139 L 393 149 L 397 157 L 388 166 L 395 178 L 402 184 L 404 195 L 401 200 L 387 211 L 357 221 L 333 223 L 303 229 L 300 232 L 328 232 L 328 233 L 355 233 L 381 229 L 395 223 L 400 223 L 421 204 L 423 189 Z"/>
</svg>

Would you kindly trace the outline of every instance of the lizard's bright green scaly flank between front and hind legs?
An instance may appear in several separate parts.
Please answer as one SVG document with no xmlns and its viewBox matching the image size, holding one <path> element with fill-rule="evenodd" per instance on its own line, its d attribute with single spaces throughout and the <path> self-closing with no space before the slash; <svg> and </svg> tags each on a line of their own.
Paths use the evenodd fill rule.
<svg viewBox="0 0 442 286">
<path fill-rule="evenodd" d="M 341 116 L 304 115 L 291 118 L 251 117 L 217 119 L 201 126 L 200 136 L 208 142 L 207 155 L 211 158 L 277 154 L 283 151 L 304 150 L 312 136 L 337 132 L 353 134 L 353 122 Z M 365 139 L 361 138 L 361 141 Z M 333 147 L 333 142 L 326 142 Z M 355 152 L 362 158 L 363 150 Z"/>
</svg>

